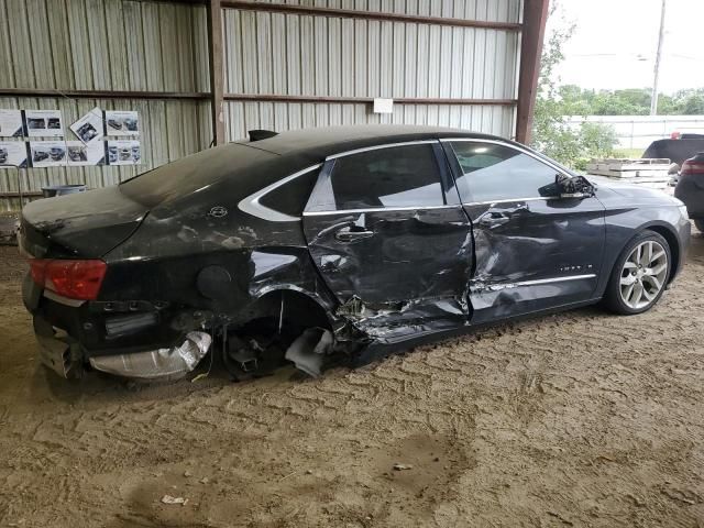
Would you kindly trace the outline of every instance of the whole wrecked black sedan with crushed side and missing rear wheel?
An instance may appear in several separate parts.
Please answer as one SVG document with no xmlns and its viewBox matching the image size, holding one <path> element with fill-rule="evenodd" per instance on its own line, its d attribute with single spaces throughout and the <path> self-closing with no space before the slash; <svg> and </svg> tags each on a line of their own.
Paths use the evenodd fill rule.
<svg viewBox="0 0 704 528">
<path fill-rule="evenodd" d="M 253 131 L 22 213 L 44 363 L 180 376 L 318 374 L 481 324 L 598 301 L 651 308 L 690 222 L 659 191 L 594 185 L 453 129 Z"/>
</svg>

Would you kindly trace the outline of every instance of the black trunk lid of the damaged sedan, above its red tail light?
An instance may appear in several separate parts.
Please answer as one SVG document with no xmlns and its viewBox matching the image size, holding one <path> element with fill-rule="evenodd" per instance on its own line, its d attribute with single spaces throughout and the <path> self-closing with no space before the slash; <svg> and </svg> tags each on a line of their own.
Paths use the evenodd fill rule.
<svg viewBox="0 0 704 528">
<path fill-rule="evenodd" d="M 127 240 L 147 213 L 118 186 L 36 200 L 22 210 L 22 248 L 37 257 L 98 258 Z"/>
</svg>

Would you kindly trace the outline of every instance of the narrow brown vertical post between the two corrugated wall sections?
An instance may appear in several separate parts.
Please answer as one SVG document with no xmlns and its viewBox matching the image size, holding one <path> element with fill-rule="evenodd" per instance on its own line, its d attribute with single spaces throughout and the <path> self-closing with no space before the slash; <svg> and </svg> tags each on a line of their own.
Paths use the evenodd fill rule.
<svg viewBox="0 0 704 528">
<path fill-rule="evenodd" d="M 210 108 L 212 118 L 212 141 L 224 144 L 223 99 L 224 75 L 222 70 L 222 6 L 220 0 L 208 3 L 208 51 L 210 66 Z"/>
</svg>

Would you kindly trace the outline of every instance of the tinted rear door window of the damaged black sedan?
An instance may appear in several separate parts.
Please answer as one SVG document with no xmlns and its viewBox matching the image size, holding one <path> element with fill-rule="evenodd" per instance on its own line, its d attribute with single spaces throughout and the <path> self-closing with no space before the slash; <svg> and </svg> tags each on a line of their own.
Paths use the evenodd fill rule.
<svg viewBox="0 0 704 528">
<path fill-rule="evenodd" d="M 444 204 L 430 144 L 361 152 L 336 161 L 317 210 L 428 207 Z"/>
</svg>

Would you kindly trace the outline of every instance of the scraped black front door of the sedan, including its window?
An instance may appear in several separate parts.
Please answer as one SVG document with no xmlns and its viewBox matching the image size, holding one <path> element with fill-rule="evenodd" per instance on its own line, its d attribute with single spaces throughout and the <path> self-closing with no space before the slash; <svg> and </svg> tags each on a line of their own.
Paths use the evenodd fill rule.
<svg viewBox="0 0 704 528">
<path fill-rule="evenodd" d="M 560 197 L 562 169 L 529 150 L 486 140 L 443 146 L 474 232 L 472 322 L 590 300 L 603 257 L 603 205 Z"/>
</svg>

